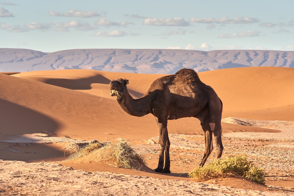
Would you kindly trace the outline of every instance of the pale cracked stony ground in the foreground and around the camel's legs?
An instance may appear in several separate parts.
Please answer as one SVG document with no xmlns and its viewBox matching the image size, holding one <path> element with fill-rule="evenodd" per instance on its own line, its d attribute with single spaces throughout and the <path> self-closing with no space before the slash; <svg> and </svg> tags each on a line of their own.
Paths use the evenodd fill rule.
<svg viewBox="0 0 294 196">
<path fill-rule="evenodd" d="M 52 162 L 26 163 L 0 160 L 0 195 L 294 195 L 294 138 L 291 134 L 294 122 L 250 121 L 236 118 L 223 119 L 223 121 L 281 130 L 280 133 L 235 132 L 223 135 L 225 146 L 223 157 L 245 154 L 254 165 L 264 168 L 267 187 L 255 188 L 255 190 L 240 189 L 220 185 L 222 179 L 198 183 L 187 179 L 157 179 L 111 172 L 86 172 Z M 56 142 L 52 141 L 54 137 L 38 134 L 31 137 L 34 141 Z M 25 137 L 26 141 L 21 138 L 18 136 L 18 143 L 32 142 L 28 139 L 29 136 Z M 157 140 L 158 138 L 151 138 L 149 145 L 134 146 L 134 149 L 145 157 L 149 163 L 148 167 L 151 168 L 156 166 L 158 161 Z M 203 156 L 204 138 L 170 134 L 170 140 L 171 171 L 180 172 L 185 176 L 193 167 L 198 167 Z M 12 140 L 0 142 L 12 142 Z M 212 153 L 207 163 L 214 159 L 215 154 Z M 248 181 L 243 182 L 248 183 Z"/>
</svg>

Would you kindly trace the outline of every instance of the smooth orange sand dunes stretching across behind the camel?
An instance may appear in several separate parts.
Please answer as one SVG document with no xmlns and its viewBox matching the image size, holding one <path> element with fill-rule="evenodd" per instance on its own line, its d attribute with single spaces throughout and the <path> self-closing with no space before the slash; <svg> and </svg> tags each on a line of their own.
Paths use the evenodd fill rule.
<svg viewBox="0 0 294 196">
<path fill-rule="evenodd" d="M 223 101 L 223 118 L 285 121 L 294 119 L 293 75 L 293 68 L 279 67 L 233 68 L 199 73 L 201 80 L 212 86 Z M 115 98 L 109 96 L 108 84 L 115 78 L 126 78 L 130 82 L 129 92 L 138 98 L 152 81 L 161 76 L 93 70 L 0 74 L 1 140 L 9 139 L 10 135 L 44 133 L 78 140 L 123 138 L 132 145 L 149 144 L 149 138 L 158 136 L 154 117 L 149 114 L 139 118 L 126 114 Z M 224 133 L 278 132 L 229 123 L 222 126 Z M 169 121 L 168 130 L 175 134 L 203 135 L 195 118 Z M 9 151 L 11 148 L 14 152 Z M 19 147 L 0 142 L 0 149 L 6 149 L 0 150 L 3 160 L 32 162 L 64 159 L 64 150 L 60 145 Z M 46 153 L 49 153 L 48 157 Z M 111 167 L 107 169 L 111 170 Z"/>
</svg>

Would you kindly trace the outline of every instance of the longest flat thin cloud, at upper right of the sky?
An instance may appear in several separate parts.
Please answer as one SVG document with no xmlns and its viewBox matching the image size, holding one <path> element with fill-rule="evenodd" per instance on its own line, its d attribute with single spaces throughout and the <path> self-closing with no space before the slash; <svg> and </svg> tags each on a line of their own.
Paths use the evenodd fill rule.
<svg viewBox="0 0 294 196">
<path fill-rule="evenodd" d="M 219 19 L 215 18 L 190 18 L 190 22 L 195 23 L 218 23 L 218 24 L 252 24 L 257 23 L 259 19 L 257 18 L 250 18 L 250 17 L 235 17 L 229 19 L 227 17 L 222 17 Z"/>
</svg>

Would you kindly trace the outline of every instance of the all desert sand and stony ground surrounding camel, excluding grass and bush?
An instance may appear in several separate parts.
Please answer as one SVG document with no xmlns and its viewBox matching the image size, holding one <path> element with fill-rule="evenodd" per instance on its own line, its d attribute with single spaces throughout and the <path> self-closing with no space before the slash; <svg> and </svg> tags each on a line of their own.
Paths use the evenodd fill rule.
<svg viewBox="0 0 294 196">
<path fill-rule="evenodd" d="M 198 75 L 223 101 L 222 157 L 245 154 L 264 168 L 265 185 L 240 177 L 191 182 L 187 173 L 198 167 L 205 146 L 196 118 L 168 122 L 172 173 L 153 172 L 159 156 L 154 117 L 125 113 L 108 84 L 126 78 L 128 91 L 139 98 L 163 75 L 69 69 L 0 73 L 0 195 L 294 195 L 294 69 Z M 117 138 L 145 158 L 144 171 L 95 157 L 64 161 L 73 143 Z M 215 158 L 213 151 L 206 164 Z"/>
</svg>

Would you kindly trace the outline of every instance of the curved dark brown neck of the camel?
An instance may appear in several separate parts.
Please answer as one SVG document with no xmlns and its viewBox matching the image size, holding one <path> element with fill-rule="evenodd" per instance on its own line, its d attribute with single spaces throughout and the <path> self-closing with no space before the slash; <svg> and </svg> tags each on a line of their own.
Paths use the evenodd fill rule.
<svg viewBox="0 0 294 196">
<path fill-rule="evenodd" d="M 134 99 L 126 89 L 126 93 L 117 99 L 123 110 L 132 116 L 144 116 L 150 113 L 149 96 L 143 95 L 141 98 Z"/>
</svg>

